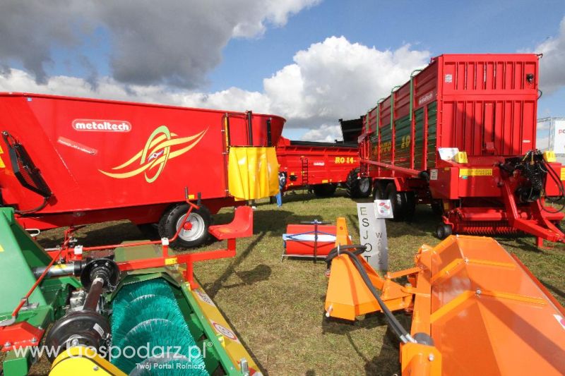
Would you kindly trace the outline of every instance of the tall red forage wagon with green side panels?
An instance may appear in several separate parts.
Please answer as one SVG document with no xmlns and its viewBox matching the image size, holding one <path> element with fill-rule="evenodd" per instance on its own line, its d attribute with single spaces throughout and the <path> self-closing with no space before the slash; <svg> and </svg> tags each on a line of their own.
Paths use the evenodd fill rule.
<svg viewBox="0 0 565 376">
<path fill-rule="evenodd" d="M 565 240 L 565 168 L 535 148 L 535 54 L 444 54 L 364 116 L 360 178 L 396 220 L 431 204 L 437 236 L 523 231 Z"/>
</svg>

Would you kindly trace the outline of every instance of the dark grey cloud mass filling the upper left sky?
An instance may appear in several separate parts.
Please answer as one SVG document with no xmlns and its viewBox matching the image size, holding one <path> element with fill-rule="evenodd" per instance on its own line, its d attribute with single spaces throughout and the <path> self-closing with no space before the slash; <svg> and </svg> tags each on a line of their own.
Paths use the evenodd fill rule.
<svg viewBox="0 0 565 376">
<path fill-rule="evenodd" d="M 261 36 L 268 25 L 285 25 L 290 15 L 319 1 L 3 0 L 0 71 L 18 61 L 38 83 L 46 83 L 56 47 L 88 66 L 78 47 L 102 28 L 109 35 L 115 80 L 194 89 L 220 63 L 230 39 Z"/>
</svg>

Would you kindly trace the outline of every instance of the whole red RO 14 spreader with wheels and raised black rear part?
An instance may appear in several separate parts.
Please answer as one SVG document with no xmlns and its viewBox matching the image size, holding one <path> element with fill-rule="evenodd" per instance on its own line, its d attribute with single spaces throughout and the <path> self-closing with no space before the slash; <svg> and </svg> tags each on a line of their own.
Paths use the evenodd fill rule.
<svg viewBox="0 0 565 376">
<path fill-rule="evenodd" d="M 340 119 L 343 141 L 295 141 L 281 137 L 277 145 L 280 171 L 285 174 L 284 190 L 308 189 L 318 197 L 330 197 L 342 184 L 353 198 L 368 197 L 371 185 L 359 184 L 357 138 L 362 119 Z"/>
</svg>

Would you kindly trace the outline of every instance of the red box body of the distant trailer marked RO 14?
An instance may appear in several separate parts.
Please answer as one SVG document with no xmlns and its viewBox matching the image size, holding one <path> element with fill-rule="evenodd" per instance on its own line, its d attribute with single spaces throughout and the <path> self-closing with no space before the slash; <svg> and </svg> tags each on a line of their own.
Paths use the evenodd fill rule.
<svg viewBox="0 0 565 376">
<path fill-rule="evenodd" d="M 331 196 L 347 174 L 359 165 L 357 145 L 344 142 L 292 141 L 281 137 L 277 144 L 279 171 L 287 175 L 285 190 L 311 189 L 318 196 Z"/>
</svg>

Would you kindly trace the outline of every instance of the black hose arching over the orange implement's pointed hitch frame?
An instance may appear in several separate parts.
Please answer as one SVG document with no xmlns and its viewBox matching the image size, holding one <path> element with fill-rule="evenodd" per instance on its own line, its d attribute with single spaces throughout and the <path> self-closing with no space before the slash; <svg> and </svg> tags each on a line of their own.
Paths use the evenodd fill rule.
<svg viewBox="0 0 565 376">
<path fill-rule="evenodd" d="M 350 252 L 349 250 L 347 250 L 354 248 L 355 248 L 354 252 Z M 400 324 L 400 322 L 396 320 L 396 317 L 394 317 L 392 311 L 389 310 L 386 304 L 382 301 L 381 296 L 379 296 L 379 292 L 376 291 L 375 286 L 373 286 L 373 284 L 371 283 L 371 279 L 369 279 L 369 275 L 367 274 L 363 265 L 357 258 L 357 255 L 363 253 L 365 249 L 366 247 L 364 245 L 358 245 L 358 244 L 343 245 L 340 247 L 336 247 L 333 248 L 330 251 L 330 253 L 328 253 L 328 257 L 326 257 L 326 262 L 328 262 L 329 264 L 329 262 L 331 262 L 331 260 L 333 260 L 333 258 L 337 257 L 338 255 L 349 256 L 353 262 L 353 265 L 355 265 L 355 267 L 357 268 L 357 272 L 359 272 L 359 275 L 361 276 L 361 278 L 369 288 L 369 291 L 371 291 L 376 301 L 379 303 L 379 306 L 381 307 L 381 310 L 383 311 L 383 314 L 388 322 L 388 326 L 391 327 L 391 329 L 393 329 L 393 332 L 396 333 L 400 341 L 402 341 L 404 344 L 408 342 L 416 342 L 415 339 L 413 339 L 412 336 L 410 336 L 410 334 L 406 331 L 406 329 L 404 329 L 404 327 Z"/>
</svg>

